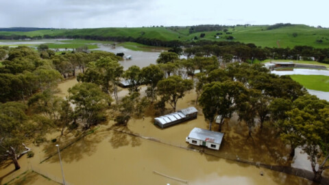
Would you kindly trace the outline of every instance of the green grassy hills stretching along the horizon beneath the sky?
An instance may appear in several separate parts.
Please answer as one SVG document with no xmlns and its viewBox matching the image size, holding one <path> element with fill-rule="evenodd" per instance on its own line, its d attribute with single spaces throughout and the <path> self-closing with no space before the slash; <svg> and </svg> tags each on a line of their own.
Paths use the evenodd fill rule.
<svg viewBox="0 0 329 185">
<path fill-rule="evenodd" d="M 233 36 L 232 41 L 254 43 L 261 47 L 294 47 L 308 45 L 316 48 L 329 47 L 329 29 L 308 27 L 306 25 L 291 25 L 267 29 L 269 26 L 235 26 L 228 28 L 226 34 L 222 31 L 197 32 L 189 34 L 189 27 L 109 27 L 95 29 L 40 29 L 33 32 L 0 32 L 0 36 L 103 36 L 103 37 L 131 37 L 156 38 L 158 40 L 191 41 L 195 36 L 198 40 L 226 40 L 226 36 Z M 200 38 L 200 34 L 206 34 Z M 217 33 L 221 38 L 215 38 Z M 318 41 L 317 41 L 318 40 Z M 321 41 L 319 41 L 321 40 Z"/>
</svg>

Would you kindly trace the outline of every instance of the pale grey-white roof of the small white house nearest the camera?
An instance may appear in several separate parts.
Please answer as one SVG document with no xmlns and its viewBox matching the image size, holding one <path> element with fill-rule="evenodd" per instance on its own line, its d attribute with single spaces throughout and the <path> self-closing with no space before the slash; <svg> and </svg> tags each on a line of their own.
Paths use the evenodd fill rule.
<svg viewBox="0 0 329 185">
<path fill-rule="evenodd" d="M 188 138 L 195 138 L 197 140 L 204 140 L 210 143 L 221 144 L 224 134 L 221 132 L 213 132 L 210 130 L 204 130 L 201 128 L 193 128 L 193 130 L 188 134 Z"/>
</svg>

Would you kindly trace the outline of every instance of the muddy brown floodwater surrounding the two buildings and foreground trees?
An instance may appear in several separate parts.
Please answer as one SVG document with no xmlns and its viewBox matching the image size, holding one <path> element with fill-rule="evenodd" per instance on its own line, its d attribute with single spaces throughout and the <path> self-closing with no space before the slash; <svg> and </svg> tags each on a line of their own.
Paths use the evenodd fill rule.
<svg viewBox="0 0 329 185">
<path fill-rule="evenodd" d="M 77 83 L 76 79 L 68 79 L 60 83 L 58 88 L 61 92 L 58 95 L 66 97 L 67 90 Z M 126 94 L 125 89 L 119 93 L 121 97 Z M 195 92 L 192 90 L 184 99 L 178 101 L 177 109 L 195 106 L 195 98 Z M 312 184 L 301 177 L 220 158 L 221 156 L 241 158 L 266 164 L 286 164 L 287 162 L 284 156 L 287 155 L 289 149 L 280 145 L 280 142 L 277 143 L 278 138 L 264 130 L 263 134 L 260 133 L 253 139 L 247 139 L 247 126 L 239 123 L 236 117 L 224 125 L 225 135 L 219 151 L 205 149 L 211 155 L 186 149 L 191 148 L 185 142 L 185 138 L 193 127 L 208 129 L 201 111 L 197 119 L 166 129 L 156 127 L 153 119 L 154 116 L 145 114 L 145 120 L 131 119 L 127 127 L 115 127 L 113 121 L 108 121 L 101 124 L 93 134 L 63 149 L 61 156 L 66 182 L 82 185 Z M 213 130 L 217 129 L 217 125 L 214 125 Z M 254 134 L 259 134 L 256 130 L 257 128 Z M 59 136 L 59 132 L 54 132 L 48 134 L 47 138 L 49 140 L 58 138 L 57 144 L 61 147 L 77 139 L 71 134 L 66 134 L 62 138 Z M 151 140 L 145 138 L 151 138 Z M 29 147 L 32 147 L 35 153 L 34 158 L 27 159 L 25 155 L 19 159 L 22 166 L 19 171 L 13 172 L 12 164 L 1 166 L 0 184 L 8 182 L 26 169 L 34 169 L 60 182 L 62 174 L 55 144 L 48 142 L 40 147 L 30 144 Z M 202 149 L 201 147 L 193 148 Z M 40 161 L 50 154 L 54 155 L 40 164 Z M 260 175 L 261 173 L 263 175 Z M 35 180 L 27 184 L 42 183 L 40 180 Z"/>
</svg>

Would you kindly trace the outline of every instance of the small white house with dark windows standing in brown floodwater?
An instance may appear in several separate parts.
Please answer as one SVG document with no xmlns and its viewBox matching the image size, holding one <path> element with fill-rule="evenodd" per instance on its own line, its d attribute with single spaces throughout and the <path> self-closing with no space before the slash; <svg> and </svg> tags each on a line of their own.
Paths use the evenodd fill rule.
<svg viewBox="0 0 329 185">
<path fill-rule="evenodd" d="M 224 134 L 221 132 L 213 132 L 195 127 L 190 132 L 190 134 L 188 134 L 186 142 L 190 143 L 191 145 L 201 145 L 210 149 L 219 150 L 223 136 Z"/>
</svg>

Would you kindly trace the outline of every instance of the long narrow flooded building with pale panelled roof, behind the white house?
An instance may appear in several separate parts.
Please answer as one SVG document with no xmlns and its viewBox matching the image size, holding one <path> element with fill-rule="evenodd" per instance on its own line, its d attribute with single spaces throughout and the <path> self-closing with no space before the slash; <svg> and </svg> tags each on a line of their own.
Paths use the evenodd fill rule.
<svg viewBox="0 0 329 185">
<path fill-rule="evenodd" d="M 154 125 L 158 125 L 159 127 L 164 128 L 196 118 L 197 109 L 194 107 L 189 107 L 186 109 L 178 110 L 178 112 L 173 112 L 171 114 L 155 118 Z"/>
</svg>

